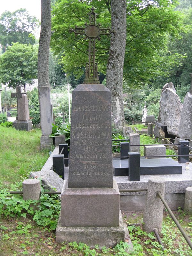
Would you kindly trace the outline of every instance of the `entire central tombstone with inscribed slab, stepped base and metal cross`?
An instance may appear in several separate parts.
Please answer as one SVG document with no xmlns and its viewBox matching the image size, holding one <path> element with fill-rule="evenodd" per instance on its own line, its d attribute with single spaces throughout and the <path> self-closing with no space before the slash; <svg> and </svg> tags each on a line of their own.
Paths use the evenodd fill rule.
<svg viewBox="0 0 192 256">
<path fill-rule="evenodd" d="M 94 24 L 84 29 L 91 39 L 100 31 L 95 16 L 92 9 Z M 91 74 L 90 65 L 84 84 L 72 92 L 69 176 L 61 192 L 56 241 L 111 247 L 124 241 L 128 231 L 112 173 L 111 92 L 95 83 L 97 66 Z"/>
</svg>

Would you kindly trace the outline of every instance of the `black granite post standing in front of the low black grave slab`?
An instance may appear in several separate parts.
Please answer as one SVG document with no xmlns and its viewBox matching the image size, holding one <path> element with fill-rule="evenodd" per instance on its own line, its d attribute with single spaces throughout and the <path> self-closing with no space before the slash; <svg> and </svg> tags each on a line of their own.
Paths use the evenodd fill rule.
<svg viewBox="0 0 192 256">
<path fill-rule="evenodd" d="M 129 167 L 129 180 L 140 181 L 140 153 L 129 152 L 129 161 L 127 162 Z"/>
</svg>

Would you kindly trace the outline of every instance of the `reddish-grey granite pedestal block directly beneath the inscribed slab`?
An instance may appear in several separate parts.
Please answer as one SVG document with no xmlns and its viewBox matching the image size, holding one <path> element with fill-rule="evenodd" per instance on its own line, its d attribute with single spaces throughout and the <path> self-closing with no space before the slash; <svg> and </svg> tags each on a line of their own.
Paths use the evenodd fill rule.
<svg viewBox="0 0 192 256">
<path fill-rule="evenodd" d="M 118 227 L 120 194 L 113 188 L 68 188 L 61 192 L 62 227 Z"/>
</svg>

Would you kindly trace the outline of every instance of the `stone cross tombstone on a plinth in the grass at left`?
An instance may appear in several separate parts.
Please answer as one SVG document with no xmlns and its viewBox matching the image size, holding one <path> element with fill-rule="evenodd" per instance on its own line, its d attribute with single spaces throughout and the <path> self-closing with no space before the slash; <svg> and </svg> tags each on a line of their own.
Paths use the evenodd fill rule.
<svg viewBox="0 0 192 256">
<path fill-rule="evenodd" d="M 17 98 L 17 117 L 13 127 L 17 130 L 30 131 L 32 122 L 29 118 L 29 106 L 26 92 L 21 92 L 21 86 L 16 86 L 16 92 L 11 93 L 12 98 Z"/>
</svg>

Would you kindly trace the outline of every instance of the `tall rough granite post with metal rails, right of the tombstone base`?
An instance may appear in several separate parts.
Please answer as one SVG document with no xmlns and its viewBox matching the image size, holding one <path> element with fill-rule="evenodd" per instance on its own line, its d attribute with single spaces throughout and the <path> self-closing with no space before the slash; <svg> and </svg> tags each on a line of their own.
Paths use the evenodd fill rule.
<svg viewBox="0 0 192 256">
<path fill-rule="evenodd" d="M 163 203 L 156 196 L 160 192 L 164 197 L 165 180 L 156 176 L 151 176 L 148 180 L 145 210 L 143 213 L 143 229 L 150 233 L 154 228 L 161 232 L 163 221 Z"/>
</svg>

